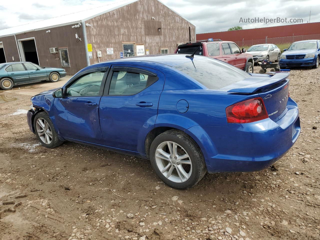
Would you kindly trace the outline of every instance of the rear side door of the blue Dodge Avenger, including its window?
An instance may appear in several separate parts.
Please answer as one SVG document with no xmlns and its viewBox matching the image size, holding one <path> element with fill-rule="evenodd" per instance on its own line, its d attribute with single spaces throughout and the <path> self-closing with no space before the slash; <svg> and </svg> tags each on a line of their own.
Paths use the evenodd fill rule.
<svg viewBox="0 0 320 240">
<path fill-rule="evenodd" d="M 134 65 L 113 65 L 100 100 L 99 115 L 105 145 L 143 153 L 143 142 L 154 128 L 164 74 Z"/>
</svg>

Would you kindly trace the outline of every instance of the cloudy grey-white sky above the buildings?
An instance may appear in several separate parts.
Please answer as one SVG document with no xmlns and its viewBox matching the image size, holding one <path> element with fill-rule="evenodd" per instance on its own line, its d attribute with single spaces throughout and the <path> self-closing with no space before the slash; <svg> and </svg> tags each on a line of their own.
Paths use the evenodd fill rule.
<svg viewBox="0 0 320 240">
<path fill-rule="evenodd" d="M 78 12 L 111 0 L 2 0 L 0 29 Z M 288 25 L 290 23 L 239 23 L 240 18 L 287 18 L 320 22 L 320 1 L 315 0 L 162 0 L 162 2 L 196 25 L 197 33 L 226 31 L 229 27 L 244 29 Z"/>
</svg>

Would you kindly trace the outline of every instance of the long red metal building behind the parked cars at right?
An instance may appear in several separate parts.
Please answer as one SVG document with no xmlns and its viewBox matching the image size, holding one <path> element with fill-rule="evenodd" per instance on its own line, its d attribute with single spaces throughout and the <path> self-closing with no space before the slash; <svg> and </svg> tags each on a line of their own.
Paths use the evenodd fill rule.
<svg viewBox="0 0 320 240">
<path fill-rule="evenodd" d="M 200 33 L 197 40 L 208 38 L 236 42 L 238 45 L 273 43 L 292 43 L 294 41 L 320 39 L 320 22 L 284 25 L 267 28 L 252 28 L 244 30 Z"/>
</svg>

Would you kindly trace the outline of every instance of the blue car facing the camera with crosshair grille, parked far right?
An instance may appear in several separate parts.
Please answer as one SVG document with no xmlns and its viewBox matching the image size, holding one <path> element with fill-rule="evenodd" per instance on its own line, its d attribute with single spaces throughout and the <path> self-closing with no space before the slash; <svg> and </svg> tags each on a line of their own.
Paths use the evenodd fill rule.
<svg viewBox="0 0 320 240">
<path fill-rule="evenodd" d="M 280 68 L 313 67 L 320 61 L 320 40 L 303 40 L 292 43 L 280 56 Z"/>
</svg>

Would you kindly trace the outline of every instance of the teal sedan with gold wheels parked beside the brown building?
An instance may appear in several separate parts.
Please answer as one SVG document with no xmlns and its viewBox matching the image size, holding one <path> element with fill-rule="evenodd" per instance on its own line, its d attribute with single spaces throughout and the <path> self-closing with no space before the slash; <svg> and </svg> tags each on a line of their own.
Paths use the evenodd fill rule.
<svg viewBox="0 0 320 240">
<path fill-rule="evenodd" d="M 66 75 L 62 68 L 40 67 L 32 62 L 0 63 L 0 88 L 8 90 L 13 85 L 46 80 L 54 83 Z"/>
</svg>

